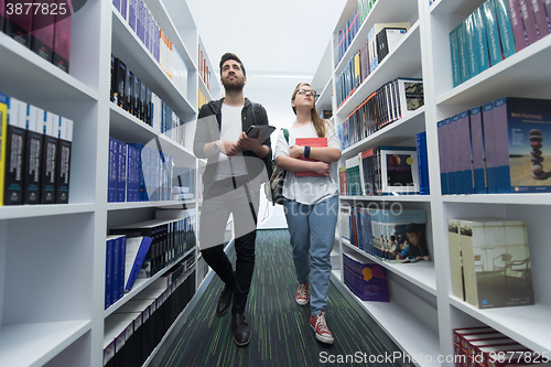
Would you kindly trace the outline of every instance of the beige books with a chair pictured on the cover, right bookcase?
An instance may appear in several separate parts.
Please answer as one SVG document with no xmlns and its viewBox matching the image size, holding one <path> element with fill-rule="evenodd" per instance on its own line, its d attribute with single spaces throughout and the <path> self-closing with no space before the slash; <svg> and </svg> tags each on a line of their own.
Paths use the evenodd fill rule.
<svg viewBox="0 0 551 367">
<path fill-rule="evenodd" d="M 449 219 L 447 234 L 455 296 L 479 309 L 533 304 L 525 222 Z"/>
</svg>

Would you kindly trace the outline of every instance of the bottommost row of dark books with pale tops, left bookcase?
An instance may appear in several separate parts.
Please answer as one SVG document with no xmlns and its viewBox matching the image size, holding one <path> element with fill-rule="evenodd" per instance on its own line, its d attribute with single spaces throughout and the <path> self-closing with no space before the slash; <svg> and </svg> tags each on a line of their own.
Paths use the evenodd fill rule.
<svg viewBox="0 0 551 367">
<path fill-rule="evenodd" d="M 142 366 L 195 294 L 193 263 L 175 265 L 169 287 L 152 284 L 104 324 L 104 367 Z"/>
</svg>

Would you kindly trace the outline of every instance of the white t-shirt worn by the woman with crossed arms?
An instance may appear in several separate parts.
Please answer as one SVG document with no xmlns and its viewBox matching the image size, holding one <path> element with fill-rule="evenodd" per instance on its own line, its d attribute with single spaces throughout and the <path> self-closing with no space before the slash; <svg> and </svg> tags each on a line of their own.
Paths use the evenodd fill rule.
<svg viewBox="0 0 551 367">
<path fill-rule="evenodd" d="M 298 128 L 290 128 L 289 143 L 280 132 L 278 143 L 276 144 L 277 159 L 280 155 L 289 156 L 289 148 L 295 144 L 296 138 L 317 138 L 314 125 L 310 123 Z M 342 150 L 341 139 L 333 126 L 327 126 L 325 138 L 327 138 L 327 147 Z M 294 172 L 287 171 L 285 182 L 283 184 L 283 196 L 289 199 L 294 199 L 299 203 L 312 205 L 326 197 L 333 196 L 338 192 L 338 162 L 333 162 L 329 165 L 329 175 L 296 177 Z"/>
</svg>

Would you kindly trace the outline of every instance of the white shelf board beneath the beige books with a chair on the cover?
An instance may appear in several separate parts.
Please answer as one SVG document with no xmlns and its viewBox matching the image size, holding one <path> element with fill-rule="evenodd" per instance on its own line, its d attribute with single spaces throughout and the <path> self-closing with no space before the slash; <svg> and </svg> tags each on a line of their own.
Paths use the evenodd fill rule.
<svg viewBox="0 0 551 367">
<path fill-rule="evenodd" d="M 450 296 L 450 303 L 534 352 L 551 350 L 551 306 L 547 304 L 478 310 L 455 296 Z"/>
</svg>

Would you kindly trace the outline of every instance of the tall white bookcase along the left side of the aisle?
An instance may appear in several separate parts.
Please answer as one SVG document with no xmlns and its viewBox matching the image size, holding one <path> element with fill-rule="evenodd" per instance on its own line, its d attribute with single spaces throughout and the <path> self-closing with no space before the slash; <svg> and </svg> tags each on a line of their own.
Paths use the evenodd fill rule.
<svg viewBox="0 0 551 367">
<path fill-rule="evenodd" d="M 177 166 L 204 169 L 191 144 L 197 93 L 201 88 L 208 99 L 220 94 L 218 83 L 212 80 L 208 90 L 199 80 L 201 41 L 187 4 L 145 2 L 187 67 L 183 88 L 163 72 L 110 1 L 88 1 L 72 15 L 68 74 L 0 33 L 0 91 L 74 121 L 69 204 L 0 207 L 1 366 L 101 366 L 104 321 L 170 269 L 139 279 L 131 292 L 105 310 L 109 229 L 153 219 L 156 209 L 183 209 L 183 204 L 199 208 L 197 196 L 186 202 L 107 203 L 109 137 L 159 143 Z M 182 119 L 183 147 L 110 101 L 111 54 Z M 196 188 L 198 180 L 196 173 Z M 194 252 L 197 258 L 197 247 L 184 257 Z M 182 314 L 166 334 L 182 322 Z"/>
</svg>

